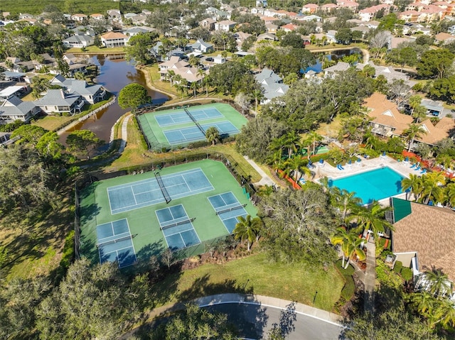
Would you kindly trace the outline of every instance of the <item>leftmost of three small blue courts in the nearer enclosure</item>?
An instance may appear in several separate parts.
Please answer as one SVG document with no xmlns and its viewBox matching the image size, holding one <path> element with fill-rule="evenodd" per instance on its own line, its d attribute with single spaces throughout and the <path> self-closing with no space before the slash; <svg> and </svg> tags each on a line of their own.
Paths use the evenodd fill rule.
<svg viewBox="0 0 455 340">
<path fill-rule="evenodd" d="M 127 219 L 98 225 L 97 242 L 100 263 L 117 262 L 123 268 L 137 262 Z"/>
</svg>

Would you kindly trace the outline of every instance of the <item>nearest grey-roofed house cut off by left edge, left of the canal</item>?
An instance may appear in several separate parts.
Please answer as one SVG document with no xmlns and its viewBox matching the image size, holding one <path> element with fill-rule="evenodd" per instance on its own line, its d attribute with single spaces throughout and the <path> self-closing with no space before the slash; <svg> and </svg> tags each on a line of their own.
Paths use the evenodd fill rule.
<svg viewBox="0 0 455 340">
<path fill-rule="evenodd" d="M 40 111 L 33 102 L 23 102 L 14 96 L 0 104 L 0 124 L 9 124 L 14 121 L 28 123 Z"/>
</svg>

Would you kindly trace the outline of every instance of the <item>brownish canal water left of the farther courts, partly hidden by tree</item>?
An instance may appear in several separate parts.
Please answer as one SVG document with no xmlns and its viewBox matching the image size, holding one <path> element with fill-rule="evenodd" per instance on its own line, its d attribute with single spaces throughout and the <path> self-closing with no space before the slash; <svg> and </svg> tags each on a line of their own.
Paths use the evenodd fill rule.
<svg viewBox="0 0 455 340">
<path fill-rule="evenodd" d="M 109 55 L 95 55 L 90 58 L 90 62 L 97 65 L 100 70 L 95 82 L 102 84 L 109 92 L 118 97 L 120 90 L 127 84 L 137 82 L 146 87 L 146 79 L 142 72 L 137 72 L 136 68 L 124 60 L 123 55 L 109 56 Z M 166 102 L 168 96 L 161 92 L 148 89 L 149 96 L 153 99 L 154 103 Z M 68 133 L 75 130 L 90 130 L 96 133 L 98 138 L 106 143 L 109 142 L 111 128 L 125 112 L 129 109 L 121 109 L 117 101 L 108 106 L 106 109 L 98 112 L 96 115 L 89 119 L 77 124 L 74 128 L 70 129 L 60 136 L 60 141 L 64 142 Z"/>
</svg>

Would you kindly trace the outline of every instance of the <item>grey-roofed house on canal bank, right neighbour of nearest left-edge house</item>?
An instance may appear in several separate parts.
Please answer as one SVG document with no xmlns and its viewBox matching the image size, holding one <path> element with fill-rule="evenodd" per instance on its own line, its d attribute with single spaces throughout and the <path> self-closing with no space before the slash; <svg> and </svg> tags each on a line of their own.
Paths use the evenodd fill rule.
<svg viewBox="0 0 455 340">
<path fill-rule="evenodd" d="M 80 94 L 68 93 L 63 89 L 48 89 L 48 92 L 35 104 L 46 114 L 75 114 L 82 111 L 85 102 Z"/>
</svg>

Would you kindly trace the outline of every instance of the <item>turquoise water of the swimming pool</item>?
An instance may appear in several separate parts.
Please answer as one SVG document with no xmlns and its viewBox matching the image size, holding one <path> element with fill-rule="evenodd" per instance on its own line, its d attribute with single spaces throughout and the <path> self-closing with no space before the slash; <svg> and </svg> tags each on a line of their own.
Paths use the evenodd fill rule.
<svg viewBox="0 0 455 340">
<path fill-rule="evenodd" d="M 363 204 L 370 204 L 373 200 L 384 199 L 400 194 L 402 175 L 390 168 L 380 168 L 357 175 L 343 177 L 338 180 L 329 180 L 329 187 L 346 189 L 355 192 L 355 196 L 362 199 Z"/>
</svg>

